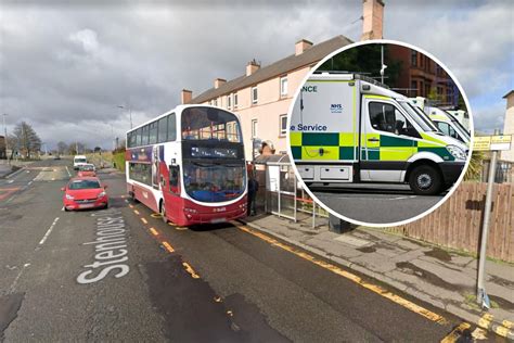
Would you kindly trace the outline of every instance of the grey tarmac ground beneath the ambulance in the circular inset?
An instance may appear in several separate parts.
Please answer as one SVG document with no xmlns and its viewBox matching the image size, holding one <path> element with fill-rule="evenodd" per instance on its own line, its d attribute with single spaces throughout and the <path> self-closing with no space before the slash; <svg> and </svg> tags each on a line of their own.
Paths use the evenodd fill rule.
<svg viewBox="0 0 514 343">
<path fill-rule="evenodd" d="M 309 186 L 329 208 L 367 224 L 391 224 L 413 218 L 439 203 L 446 195 L 416 195 L 408 185 L 331 183 Z"/>
</svg>

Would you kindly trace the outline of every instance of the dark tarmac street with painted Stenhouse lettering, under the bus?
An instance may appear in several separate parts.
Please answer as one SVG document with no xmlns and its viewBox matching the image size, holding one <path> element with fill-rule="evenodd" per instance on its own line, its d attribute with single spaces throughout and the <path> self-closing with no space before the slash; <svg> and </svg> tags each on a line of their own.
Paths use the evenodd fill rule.
<svg viewBox="0 0 514 343">
<path fill-rule="evenodd" d="M 437 342 L 462 323 L 242 224 L 164 224 L 116 173 L 108 209 L 63 212 L 68 163 L 0 180 L 0 341 Z"/>
</svg>

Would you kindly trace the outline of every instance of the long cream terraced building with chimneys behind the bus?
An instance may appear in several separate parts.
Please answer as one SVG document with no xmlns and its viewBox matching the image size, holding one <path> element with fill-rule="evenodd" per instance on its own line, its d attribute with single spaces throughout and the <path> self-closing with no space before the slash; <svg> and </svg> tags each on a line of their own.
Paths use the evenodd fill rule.
<svg viewBox="0 0 514 343">
<path fill-rule="evenodd" d="M 382 38 L 384 3 L 363 0 L 362 39 Z M 307 73 L 329 53 L 351 43 L 336 36 L 313 45 L 307 39 L 295 43 L 294 54 L 261 66 L 255 60 L 246 64 L 245 73 L 232 80 L 216 78 L 214 87 L 197 97 L 183 89 L 183 104 L 210 104 L 237 113 L 245 139 L 246 160 L 252 160 L 253 140 L 262 141 L 264 154 L 285 154 L 287 111 L 295 91 Z"/>
</svg>

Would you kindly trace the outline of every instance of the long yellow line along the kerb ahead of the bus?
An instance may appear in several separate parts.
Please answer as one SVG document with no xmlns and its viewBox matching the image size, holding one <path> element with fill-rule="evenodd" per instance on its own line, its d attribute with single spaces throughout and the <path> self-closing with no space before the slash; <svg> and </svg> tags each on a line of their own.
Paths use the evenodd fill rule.
<svg viewBox="0 0 514 343">
<path fill-rule="evenodd" d="M 245 231 L 245 232 L 247 232 L 247 233 L 250 233 L 250 234 L 253 234 L 253 236 L 255 236 L 255 237 L 258 237 L 258 238 L 260 238 L 261 240 L 264 240 L 264 241 L 266 241 L 266 242 L 268 242 L 268 243 L 270 243 L 270 244 L 273 244 L 273 245 L 275 245 L 275 246 L 279 246 L 279 247 L 281 247 L 281 249 L 283 249 L 283 250 L 285 250 L 285 251 L 287 251 L 287 252 L 290 252 L 290 253 L 295 254 L 296 256 L 299 256 L 299 257 L 301 257 L 301 258 L 304 258 L 304 259 L 307 259 L 307 261 L 309 261 L 309 262 L 311 262 L 311 263 L 313 263 L 313 264 L 316 264 L 316 265 L 318 265 L 318 266 L 320 266 L 320 267 L 322 267 L 322 268 L 325 268 L 325 269 L 327 269 L 327 270 L 330 270 L 330 271 L 332 271 L 332 272 L 334 272 L 334 274 L 336 274 L 336 275 L 339 275 L 339 276 L 342 276 L 342 277 L 344 277 L 344 278 L 346 278 L 346 279 L 349 279 L 349 280 L 351 280 L 351 281 L 354 281 L 354 282 L 360 284 L 361 287 L 363 287 L 363 288 L 365 288 L 365 289 L 368 289 L 368 290 L 370 290 L 370 291 L 372 291 L 372 292 L 374 292 L 374 293 L 376 293 L 376 294 L 380 294 L 380 295 L 382 295 L 382 296 L 384 296 L 384 297 L 386 297 L 386 298 L 388 298 L 388 300 L 390 300 L 390 301 L 397 303 L 398 305 L 403 306 L 403 307 L 406 307 L 406 308 L 412 310 L 413 313 L 416 313 L 416 314 L 419 314 L 419 315 L 421 315 L 421 316 L 423 316 L 423 317 L 425 317 L 425 318 L 427 318 L 427 319 L 429 319 L 429 320 L 432 320 L 432 321 L 438 322 L 438 323 L 440 323 L 440 325 L 446 325 L 446 323 L 447 323 L 447 320 L 446 320 L 442 316 L 440 316 L 440 315 L 438 315 L 438 314 L 436 314 L 436 313 L 433 313 L 433 312 L 431 312 L 431 310 L 428 310 L 428 309 L 426 309 L 426 308 L 424 308 L 424 307 L 422 307 L 422 306 L 420 306 L 420 305 L 416 305 L 416 304 L 414 304 L 413 302 L 408 301 L 408 300 L 404 298 L 404 297 L 401 297 L 401 296 L 399 296 L 399 295 L 396 295 L 396 294 L 389 292 L 388 290 L 386 290 L 386 289 L 384 289 L 384 288 L 382 288 L 382 287 L 380 287 L 380 285 L 376 285 L 376 284 L 373 284 L 373 283 L 369 283 L 369 282 L 362 280 L 362 278 L 356 276 L 355 274 L 351 274 L 351 272 L 349 272 L 349 271 L 343 270 L 342 268 L 339 268 L 339 267 L 337 267 L 337 266 L 335 266 L 335 265 L 333 265 L 333 264 L 331 264 L 331 263 L 326 263 L 326 262 L 321 261 L 321 259 L 319 259 L 319 258 L 317 258 L 317 257 L 314 257 L 314 256 L 312 256 L 312 255 L 309 255 L 309 254 L 307 254 L 307 253 L 305 253 L 305 252 L 301 252 L 301 251 L 299 251 L 299 250 L 297 250 L 297 249 L 295 249 L 295 247 L 292 247 L 292 246 L 290 246 L 290 245 L 283 244 L 283 243 L 279 242 L 278 240 L 275 240 L 275 239 L 273 239 L 273 238 L 271 238 L 271 237 L 268 237 L 268 236 L 266 236 L 266 234 L 264 234 L 264 233 L 261 233 L 261 232 L 258 232 L 258 231 L 255 231 L 255 230 L 250 230 L 250 229 L 248 229 L 247 227 L 241 226 L 241 225 L 239 225 L 239 224 L 236 224 L 236 223 L 233 223 L 233 224 L 234 224 L 240 230 L 243 230 L 243 231 Z"/>
</svg>

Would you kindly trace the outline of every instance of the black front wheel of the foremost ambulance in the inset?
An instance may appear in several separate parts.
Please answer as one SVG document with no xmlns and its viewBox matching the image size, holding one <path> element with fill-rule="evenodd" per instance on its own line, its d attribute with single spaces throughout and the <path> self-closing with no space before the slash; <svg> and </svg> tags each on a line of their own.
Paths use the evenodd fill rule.
<svg viewBox="0 0 514 343">
<path fill-rule="evenodd" d="M 439 165 L 431 160 L 420 160 L 412 163 L 407 169 L 406 181 L 419 195 L 438 194 L 445 185 Z"/>
</svg>

